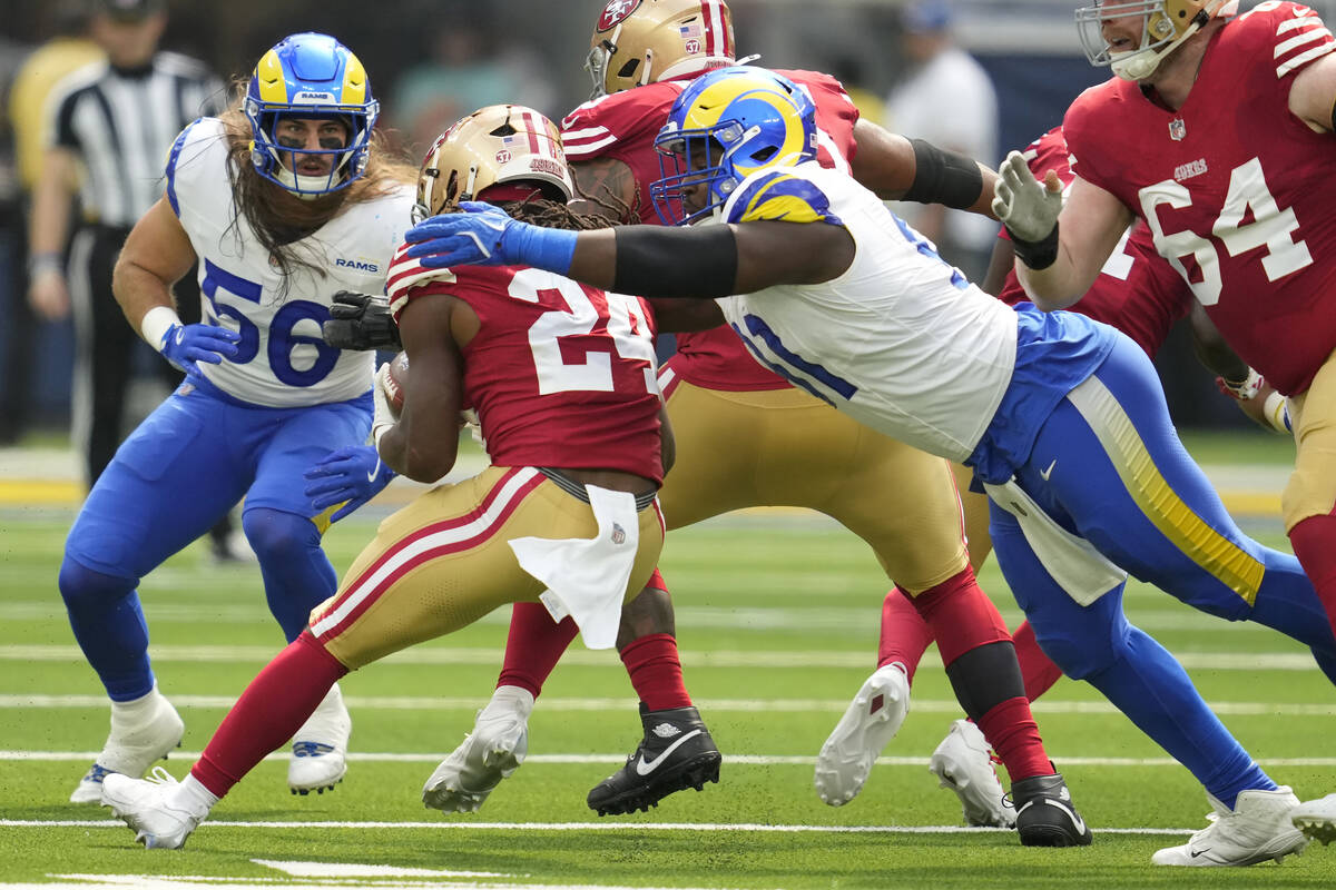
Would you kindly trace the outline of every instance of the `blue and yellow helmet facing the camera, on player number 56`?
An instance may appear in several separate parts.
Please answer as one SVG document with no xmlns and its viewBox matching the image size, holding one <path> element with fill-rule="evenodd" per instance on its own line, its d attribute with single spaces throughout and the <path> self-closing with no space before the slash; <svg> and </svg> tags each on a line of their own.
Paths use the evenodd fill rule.
<svg viewBox="0 0 1336 890">
<path fill-rule="evenodd" d="M 298 197 L 347 187 L 366 172 L 371 128 L 379 109 L 366 69 L 351 49 L 322 33 L 285 37 L 255 65 L 242 103 L 251 125 L 255 172 Z M 295 152 L 331 156 L 334 163 L 327 175 L 298 176 L 283 165 L 283 155 L 294 151 L 281 145 L 274 135 L 282 117 L 333 119 L 347 125 L 347 143 L 342 148 Z"/>
</svg>

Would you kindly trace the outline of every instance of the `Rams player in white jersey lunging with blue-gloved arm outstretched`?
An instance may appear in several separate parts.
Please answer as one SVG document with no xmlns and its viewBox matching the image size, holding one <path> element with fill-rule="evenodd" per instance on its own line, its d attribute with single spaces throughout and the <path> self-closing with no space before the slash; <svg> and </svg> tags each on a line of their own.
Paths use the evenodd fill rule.
<svg viewBox="0 0 1336 890">
<path fill-rule="evenodd" d="M 1336 681 L 1336 636 L 1315 620 L 1321 603 L 1297 560 L 1225 512 L 1182 450 L 1145 352 L 1086 316 L 1013 310 L 970 284 L 875 193 L 815 161 L 799 95 L 778 75 L 725 68 L 677 97 L 656 147 L 679 171 L 652 197 L 699 226 L 560 232 L 466 204 L 410 230 L 409 255 L 452 268 L 530 262 L 616 291 L 715 300 L 758 360 L 796 386 L 971 467 L 1045 652 L 1218 806 L 1197 855 L 1172 847 L 1154 861 L 1250 865 L 1301 850 L 1293 793 L 1122 612 L 1133 572 L 1209 614 L 1280 630 Z M 1021 826 L 1031 807 L 1013 795 Z"/>
</svg>

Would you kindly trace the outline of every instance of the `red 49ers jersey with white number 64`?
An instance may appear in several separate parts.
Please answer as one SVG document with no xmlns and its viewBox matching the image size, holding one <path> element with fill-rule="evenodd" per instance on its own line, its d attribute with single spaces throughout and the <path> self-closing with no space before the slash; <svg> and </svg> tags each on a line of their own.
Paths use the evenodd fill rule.
<svg viewBox="0 0 1336 890">
<path fill-rule="evenodd" d="M 1063 123 L 1073 171 L 1146 220 L 1234 351 L 1287 395 L 1336 350 L 1336 143 L 1288 109 L 1295 75 L 1333 48 L 1308 7 L 1263 3 L 1212 36 L 1178 111 L 1110 80 Z"/>
</svg>

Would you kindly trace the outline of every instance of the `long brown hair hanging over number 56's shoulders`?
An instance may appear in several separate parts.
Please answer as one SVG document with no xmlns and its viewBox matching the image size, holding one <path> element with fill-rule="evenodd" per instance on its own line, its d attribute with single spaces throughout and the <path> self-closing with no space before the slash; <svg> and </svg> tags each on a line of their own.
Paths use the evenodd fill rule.
<svg viewBox="0 0 1336 890">
<path fill-rule="evenodd" d="M 366 152 L 366 172 L 347 188 L 305 200 L 261 176 L 251 164 L 253 133 L 240 107 L 220 115 L 227 132 L 227 167 L 232 180 L 232 219 L 228 231 L 238 238 L 240 217 L 255 232 L 261 247 L 269 251 L 270 263 L 282 272 L 283 287 L 298 268 L 327 275 L 323 264 L 294 247 L 295 242 L 317 232 L 349 207 L 389 195 L 397 185 L 417 181 L 417 168 L 406 157 L 394 155 L 378 131 L 371 132 Z"/>
</svg>

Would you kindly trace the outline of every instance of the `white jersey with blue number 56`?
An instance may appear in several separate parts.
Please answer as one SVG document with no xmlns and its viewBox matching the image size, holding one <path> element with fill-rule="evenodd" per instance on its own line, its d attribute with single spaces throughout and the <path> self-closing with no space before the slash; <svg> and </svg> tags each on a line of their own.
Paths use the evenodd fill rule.
<svg viewBox="0 0 1336 890">
<path fill-rule="evenodd" d="M 167 197 L 199 256 L 204 320 L 240 334 L 238 355 L 199 363 L 210 383 L 243 402 L 291 408 L 346 402 L 371 386 L 373 352 L 321 339 L 337 291 L 383 294 L 394 250 L 411 226 L 409 185 L 354 204 L 295 242 L 299 267 L 283 276 L 232 200 L 223 123 L 187 127 L 167 160 Z"/>
</svg>

